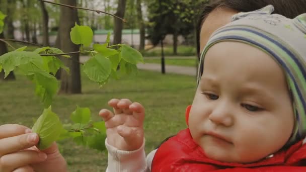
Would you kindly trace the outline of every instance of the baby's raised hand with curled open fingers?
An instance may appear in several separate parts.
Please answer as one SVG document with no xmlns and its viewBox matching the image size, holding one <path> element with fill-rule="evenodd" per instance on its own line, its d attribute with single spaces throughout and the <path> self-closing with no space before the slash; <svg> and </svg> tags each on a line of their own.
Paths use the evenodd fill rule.
<svg viewBox="0 0 306 172">
<path fill-rule="evenodd" d="M 112 99 L 108 105 L 114 113 L 102 109 L 99 115 L 105 121 L 107 142 L 119 150 L 139 149 L 143 143 L 144 108 L 128 99 Z"/>
</svg>

